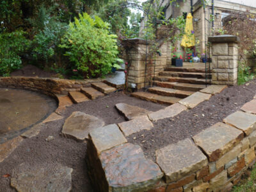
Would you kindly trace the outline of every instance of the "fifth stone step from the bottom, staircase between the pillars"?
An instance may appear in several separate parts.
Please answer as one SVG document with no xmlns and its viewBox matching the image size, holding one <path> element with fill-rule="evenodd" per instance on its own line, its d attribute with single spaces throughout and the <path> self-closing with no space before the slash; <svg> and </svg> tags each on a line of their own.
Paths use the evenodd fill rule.
<svg viewBox="0 0 256 192">
<path fill-rule="evenodd" d="M 205 79 L 205 73 L 200 72 L 173 72 L 173 71 L 163 71 L 159 72 L 159 76 L 170 76 L 170 77 L 193 77 L 199 79 Z M 207 78 L 211 77 L 207 74 Z"/>
</svg>

